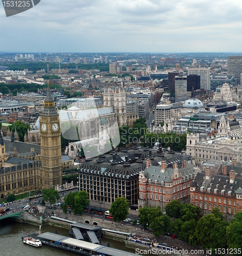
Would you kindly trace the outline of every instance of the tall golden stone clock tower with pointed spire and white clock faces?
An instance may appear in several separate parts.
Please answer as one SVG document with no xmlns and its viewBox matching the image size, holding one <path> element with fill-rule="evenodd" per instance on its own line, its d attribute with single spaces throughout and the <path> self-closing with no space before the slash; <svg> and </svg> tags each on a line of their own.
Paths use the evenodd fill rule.
<svg viewBox="0 0 242 256">
<path fill-rule="evenodd" d="M 60 122 L 49 88 L 43 107 L 39 120 L 42 189 L 62 183 Z"/>
</svg>

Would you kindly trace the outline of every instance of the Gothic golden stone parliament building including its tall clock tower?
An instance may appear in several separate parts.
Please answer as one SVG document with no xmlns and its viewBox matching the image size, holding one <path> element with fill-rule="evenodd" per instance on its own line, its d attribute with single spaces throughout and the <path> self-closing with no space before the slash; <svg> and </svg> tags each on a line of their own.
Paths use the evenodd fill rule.
<svg viewBox="0 0 242 256">
<path fill-rule="evenodd" d="M 39 122 L 40 146 L 0 133 L 0 197 L 42 190 L 62 183 L 59 115 L 48 89 Z"/>
</svg>

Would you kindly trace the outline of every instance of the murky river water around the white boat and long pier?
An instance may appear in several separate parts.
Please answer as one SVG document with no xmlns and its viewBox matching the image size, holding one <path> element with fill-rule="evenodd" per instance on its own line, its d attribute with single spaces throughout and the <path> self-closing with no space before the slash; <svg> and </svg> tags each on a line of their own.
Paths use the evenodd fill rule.
<svg viewBox="0 0 242 256">
<path fill-rule="evenodd" d="M 38 231 L 38 226 L 33 226 L 25 223 L 12 222 L 8 220 L 0 221 L 0 250 L 2 255 L 11 256 L 74 256 L 76 254 L 58 250 L 49 246 L 42 246 L 40 248 L 32 247 L 23 243 L 21 237 L 27 233 Z M 68 229 L 43 226 L 41 232 L 52 232 L 55 230 L 62 236 L 71 237 Z M 109 239 L 102 239 L 101 244 L 106 246 L 109 243 L 110 247 L 130 251 L 135 253 L 135 250 L 126 248 L 124 242 L 118 242 Z"/>
</svg>

